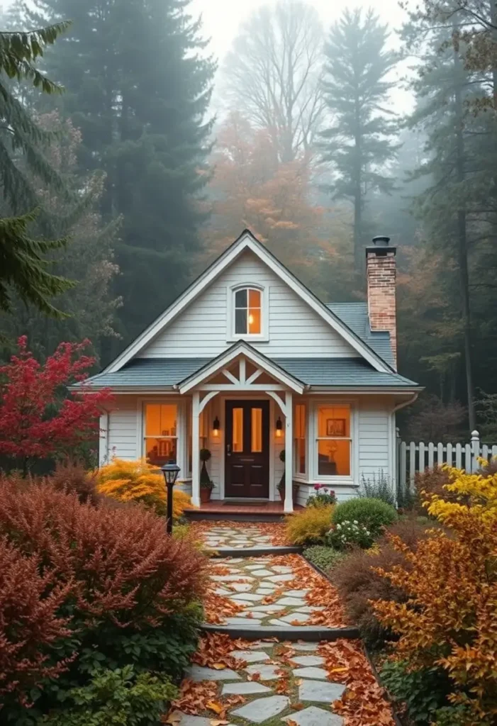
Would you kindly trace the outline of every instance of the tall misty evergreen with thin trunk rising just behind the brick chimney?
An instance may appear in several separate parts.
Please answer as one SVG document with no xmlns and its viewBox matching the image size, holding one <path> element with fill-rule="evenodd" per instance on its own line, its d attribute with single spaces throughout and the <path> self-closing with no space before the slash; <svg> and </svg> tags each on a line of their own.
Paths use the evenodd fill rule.
<svg viewBox="0 0 497 726">
<path fill-rule="evenodd" d="M 334 197 L 351 200 L 354 208 L 353 239 L 356 271 L 364 266 L 363 211 L 368 192 L 389 193 L 394 180 L 385 173 L 395 158 L 396 125 L 383 107 L 392 83 L 385 80 L 396 62 L 385 49 L 387 26 L 372 9 L 348 9 L 332 26 L 324 46 L 324 93 L 334 119 L 324 131 L 324 162 L 334 168 Z"/>
</svg>

